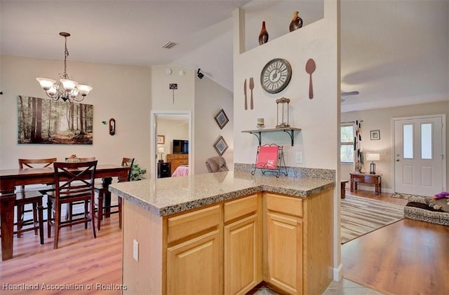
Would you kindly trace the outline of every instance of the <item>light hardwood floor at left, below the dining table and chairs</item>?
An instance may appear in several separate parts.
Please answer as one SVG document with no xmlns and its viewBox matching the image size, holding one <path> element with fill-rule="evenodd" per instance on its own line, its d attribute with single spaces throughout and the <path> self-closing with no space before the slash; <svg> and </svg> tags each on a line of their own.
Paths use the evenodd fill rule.
<svg viewBox="0 0 449 295">
<path fill-rule="evenodd" d="M 121 294 L 121 230 L 118 214 L 105 219 L 97 238 L 92 238 L 90 228 L 83 224 L 62 228 L 59 248 L 53 249 L 52 238 L 47 238 L 44 226 L 44 245 L 32 231 L 14 239 L 14 257 L 0 262 L 0 294 L 25 294 L 25 291 L 8 290 L 11 286 L 33 286 L 38 291 L 26 294 Z M 48 287 L 75 288 L 83 291 L 42 289 Z M 92 286 L 92 290 L 87 290 Z"/>
</svg>

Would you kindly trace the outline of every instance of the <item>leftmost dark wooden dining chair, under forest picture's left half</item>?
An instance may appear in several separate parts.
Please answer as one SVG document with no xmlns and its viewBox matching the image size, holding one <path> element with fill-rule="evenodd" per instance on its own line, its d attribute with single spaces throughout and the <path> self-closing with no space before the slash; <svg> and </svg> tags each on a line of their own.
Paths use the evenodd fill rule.
<svg viewBox="0 0 449 295">
<path fill-rule="evenodd" d="M 18 159 L 20 169 L 52 167 L 53 162 L 55 162 L 56 160 L 56 158 Z M 43 195 L 46 195 L 47 191 L 52 189 L 53 184 L 42 184 L 42 186 L 39 186 L 39 188 L 30 188 L 29 186 L 20 187 L 20 191 L 18 191 L 17 193 L 15 203 L 17 213 L 16 233 L 18 238 L 20 238 L 24 231 L 28 231 L 28 229 L 22 230 L 22 227 L 29 224 L 34 224 L 32 228 L 34 228 L 34 235 L 37 235 L 37 231 L 39 229 L 37 225 L 41 221 L 38 219 L 39 206 L 41 207 L 41 210 L 46 210 L 45 207 L 42 207 L 42 198 Z M 31 209 L 27 209 L 27 205 L 31 205 Z M 25 219 L 25 214 L 27 214 L 28 212 L 33 212 L 33 219 Z"/>
</svg>

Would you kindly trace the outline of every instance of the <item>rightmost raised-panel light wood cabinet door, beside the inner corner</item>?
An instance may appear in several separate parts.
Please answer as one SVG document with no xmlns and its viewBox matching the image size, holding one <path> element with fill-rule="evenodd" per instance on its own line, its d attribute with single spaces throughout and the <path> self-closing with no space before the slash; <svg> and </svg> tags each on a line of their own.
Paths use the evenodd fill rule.
<svg viewBox="0 0 449 295">
<path fill-rule="evenodd" d="M 267 212 L 267 282 L 302 294 L 302 219 Z"/>
</svg>

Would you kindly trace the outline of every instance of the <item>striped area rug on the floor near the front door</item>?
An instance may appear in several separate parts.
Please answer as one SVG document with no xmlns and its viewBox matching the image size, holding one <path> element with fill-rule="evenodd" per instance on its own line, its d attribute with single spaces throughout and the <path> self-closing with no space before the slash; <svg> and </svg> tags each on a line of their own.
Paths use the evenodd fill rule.
<svg viewBox="0 0 449 295">
<path fill-rule="evenodd" d="M 341 200 L 341 242 L 349 242 L 404 219 L 404 206 L 346 195 Z"/>
</svg>

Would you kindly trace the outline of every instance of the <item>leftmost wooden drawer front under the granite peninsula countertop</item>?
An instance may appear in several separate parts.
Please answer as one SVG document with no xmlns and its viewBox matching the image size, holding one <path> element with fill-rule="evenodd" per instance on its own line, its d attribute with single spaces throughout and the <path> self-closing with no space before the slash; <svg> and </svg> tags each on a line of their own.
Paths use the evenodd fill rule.
<svg viewBox="0 0 449 295">
<path fill-rule="evenodd" d="M 180 240 L 220 224 L 220 205 L 170 217 L 167 221 L 167 242 Z"/>
</svg>

